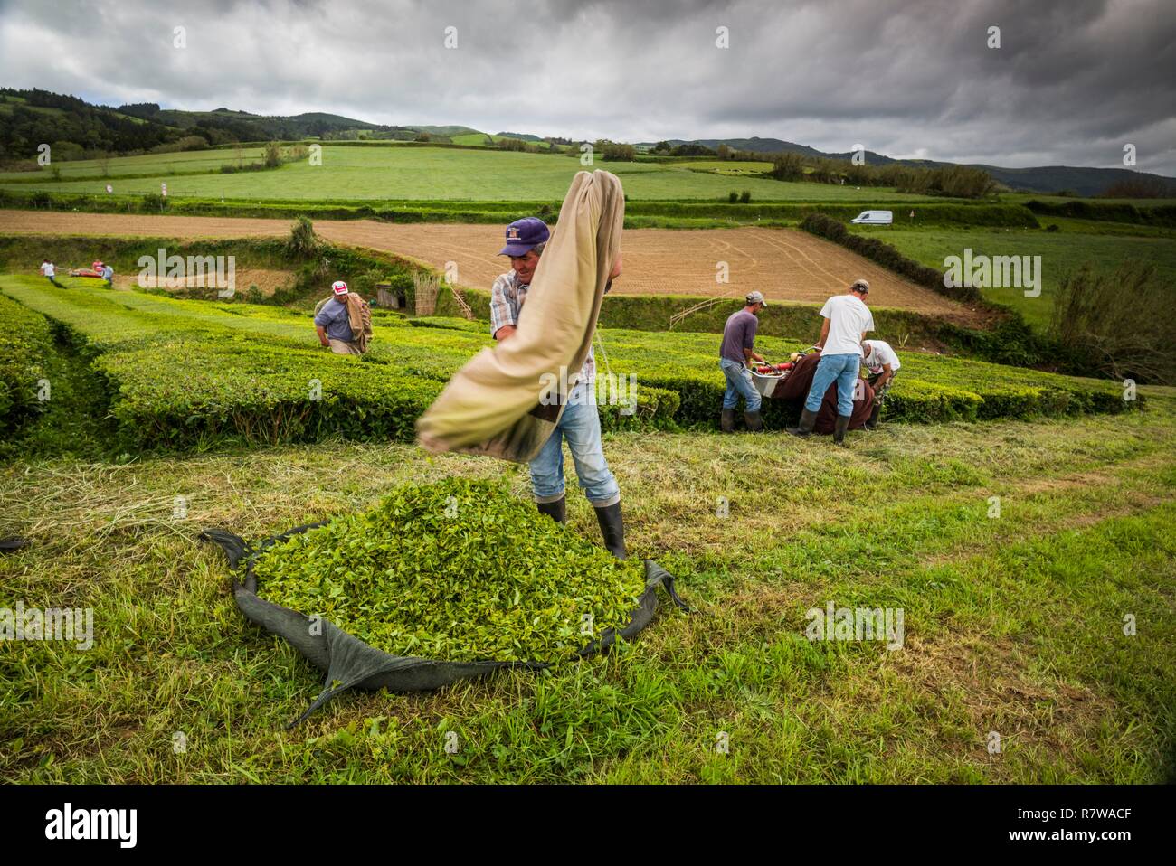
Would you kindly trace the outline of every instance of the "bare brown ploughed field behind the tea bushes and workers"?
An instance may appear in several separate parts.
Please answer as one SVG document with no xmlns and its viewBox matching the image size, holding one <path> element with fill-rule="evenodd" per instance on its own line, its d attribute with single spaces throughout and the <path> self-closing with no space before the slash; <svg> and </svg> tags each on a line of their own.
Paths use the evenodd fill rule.
<svg viewBox="0 0 1176 866">
<path fill-rule="evenodd" d="M 0 210 L 0 234 L 276 237 L 289 226 L 289 220 Z M 489 289 L 494 277 L 508 269 L 507 260 L 495 255 L 502 247 L 497 226 L 319 220 L 314 228 L 335 243 L 412 256 L 439 268 L 453 262 L 461 286 Z M 715 278 L 720 262 L 729 269 L 726 284 Z M 614 291 L 735 297 L 759 289 L 769 301 L 821 302 L 858 277 L 870 281 L 870 302 L 877 307 L 968 324 L 987 318 L 834 243 L 790 229 L 628 229 L 624 276 Z"/>
</svg>

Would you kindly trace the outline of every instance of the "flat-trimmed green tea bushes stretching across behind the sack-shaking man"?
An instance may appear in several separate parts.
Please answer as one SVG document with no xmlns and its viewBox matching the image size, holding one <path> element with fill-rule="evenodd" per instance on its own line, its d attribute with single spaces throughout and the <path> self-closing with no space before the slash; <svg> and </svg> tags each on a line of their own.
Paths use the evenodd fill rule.
<svg viewBox="0 0 1176 866">
<path fill-rule="evenodd" d="M 34 321 L 41 314 L 73 336 L 80 356 L 107 383 L 111 414 L 128 448 L 187 449 L 220 439 L 275 444 L 328 435 L 410 441 L 415 419 L 448 378 L 493 344 L 480 322 L 379 316 L 370 351 L 341 357 L 319 348 L 305 310 L 109 291 L 80 280 L 66 289 L 42 282 L 0 277 L 0 289 L 20 302 L 8 301 L 9 309 Z M 39 321 L 41 330 L 27 333 L 48 340 L 48 325 Z M 601 329 L 600 344 L 597 374 L 606 382 L 612 374 L 614 388 L 636 382 L 635 404 L 622 390 L 619 402 L 600 407 L 606 430 L 716 427 L 726 388 L 717 335 Z M 761 337 L 756 347 L 769 358 L 803 348 L 779 337 Z M 1138 405 L 1124 403 L 1114 382 L 901 347 L 900 353 L 903 369 L 887 402 L 890 421 L 1062 416 Z M 780 428 L 796 411 L 768 401 L 764 419 Z"/>
</svg>

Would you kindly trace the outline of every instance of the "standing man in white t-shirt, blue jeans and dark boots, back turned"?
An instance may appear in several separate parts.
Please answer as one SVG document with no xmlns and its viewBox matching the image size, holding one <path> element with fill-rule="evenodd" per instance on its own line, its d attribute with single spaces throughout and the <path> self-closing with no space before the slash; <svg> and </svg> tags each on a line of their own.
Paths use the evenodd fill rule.
<svg viewBox="0 0 1176 866">
<path fill-rule="evenodd" d="M 833 441 L 846 444 L 846 430 L 854 414 L 854 387 L 862 371 L 862 340 L 874 330 L 874 316 L 866 306 L 870 284 L 856 280 L 844 295 L 834 295 L 824 302 L 821 315 L 821 338 L 815 345 L 821 350 L 821 361 L 813 376 L 804 411 L 799 427 L 788 428 L 794 436 L 810 436 L 816 424 L 816 414 L 829 385 L 837 383 L 837 422 L 833 429 Z"/>
</svg>

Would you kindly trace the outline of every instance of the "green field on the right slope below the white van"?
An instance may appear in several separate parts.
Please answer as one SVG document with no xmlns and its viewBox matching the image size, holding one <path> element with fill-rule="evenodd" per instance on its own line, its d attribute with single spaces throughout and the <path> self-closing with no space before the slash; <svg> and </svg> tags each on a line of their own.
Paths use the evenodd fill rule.
<svg viewBox="0 0 1176 866">
<path fill-rule="evenodd" d="M 1101 270 L 1114 270 L 1124 262 L 1154 262 L 1161 277 L 1165 277 L 1170 289 L 1161 303 L 1176 301 L 1176 239 L 1167 236 L 1170 229 L 1132 227 L 1137 231 L 1128 236 L 1109 234 L 1105 226 L 1087 220 L 1053 220 L 1042 217 L 1043 224 L 1064 223 L 1060 231 L 1040 229 L 911 229 L 901 226 L 874 227 L 853 226 L 856 234 L 886 241 L 900 253 L 921 264 L 944 269 L 947 256 L 963 256 L 964 249 L 971 255 L 987 256 L 1041 256 L 1041 295 L 1025 297 L 1020 288 L 987 288 L 982 294 L 997 303 L 1009 304 L 1021 311 L 1025 321 L 1038 328 L 1049 325 L 1053 316 L 1053 297 L 1063 276 L 1077 269 L 1083 262 L 1091 262 Z M 1121 230 L 1129 227 L 1121 226 Z M 1143 236 L 1137 236 L 1142 234 Z"/>
</svg>

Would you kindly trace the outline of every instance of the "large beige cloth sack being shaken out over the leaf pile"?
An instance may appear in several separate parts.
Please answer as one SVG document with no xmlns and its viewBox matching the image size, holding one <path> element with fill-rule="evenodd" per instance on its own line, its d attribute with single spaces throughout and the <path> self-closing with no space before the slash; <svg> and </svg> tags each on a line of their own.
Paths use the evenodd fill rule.
<svg viewBox="0 0 1176 866">
<path fill-rule="evenodd" d="M 616 175 L 577 173 L 535 269 L 517 330 L 475 355 L 417 419 L 425 448 L 520 463 L 539 454 L 563 414 L 560 370 L 567 371 L 570 390 L 592 348 L 623 222 L 624 190 Z"/>
</svg>

